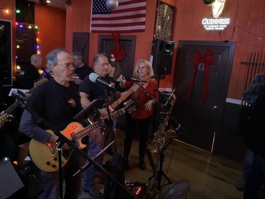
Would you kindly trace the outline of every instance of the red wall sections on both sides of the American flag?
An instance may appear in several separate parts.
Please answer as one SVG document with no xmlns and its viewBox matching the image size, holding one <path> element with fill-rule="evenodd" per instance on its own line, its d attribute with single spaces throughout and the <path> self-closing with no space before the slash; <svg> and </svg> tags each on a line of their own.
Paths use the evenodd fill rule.
<svg viewBox="0 0 265 199">
<path fill-rule="evenodd" d="M 156 17 L 155 10 L 156 0 L 147 0 L 145 32 L 126 34 L 136 35 L 135 63 L 139 59 L 150 59 Z M 66 13 L 66 48 L 68 51 L 72 51 L 73 32 L 89 32 L 91 0 L 72 0 L 71 6 L 67 7 Z M 88 65 L 90 66 L 93 66 L 92 60 L 97 53 L 97 38 L 97 33 L 90 33 L 88 57 Z"/>
</svg>

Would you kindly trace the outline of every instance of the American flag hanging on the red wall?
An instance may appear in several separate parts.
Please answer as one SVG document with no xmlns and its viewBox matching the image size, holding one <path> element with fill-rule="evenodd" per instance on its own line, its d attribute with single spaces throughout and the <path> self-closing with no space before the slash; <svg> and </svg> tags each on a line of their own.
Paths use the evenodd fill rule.
<svg viewBox="0 0 265 199">
<path fill-rule="evenodd" d="M 118 0 L 116 9 L 110 10 L 106 0 L 93 0 L 91 32 L 131 33 L 145 31 L 146 0 Z"/>
</svg>

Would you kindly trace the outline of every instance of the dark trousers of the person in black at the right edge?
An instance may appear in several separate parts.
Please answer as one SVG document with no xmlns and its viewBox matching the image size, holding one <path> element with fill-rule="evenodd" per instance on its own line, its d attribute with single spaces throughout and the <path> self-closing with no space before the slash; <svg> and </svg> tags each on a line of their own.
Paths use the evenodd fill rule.
<svg viewBox="0 0 265 199">
<path fill-rule="evenodd" d="M 254 153 L 251 171 L 248 175 L 244 199 L 258 199 L 265 180 L 265 158 Z"/>
</svg>

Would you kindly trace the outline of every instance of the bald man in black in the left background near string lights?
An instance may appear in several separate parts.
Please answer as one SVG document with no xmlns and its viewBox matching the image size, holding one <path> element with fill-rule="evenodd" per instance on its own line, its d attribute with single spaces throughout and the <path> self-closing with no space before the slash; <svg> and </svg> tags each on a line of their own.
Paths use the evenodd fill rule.
<svg viewBox="0 0 265 199">
<path fill-rule="evenodd" d="M 30 65 L 25 69 L 23 88 L 32 89 L 34 82 L 40 78 L 38 69 L 42 67 L 43 58 L 40 55 L 34 54 L 30 58 Z"/>
</svg>

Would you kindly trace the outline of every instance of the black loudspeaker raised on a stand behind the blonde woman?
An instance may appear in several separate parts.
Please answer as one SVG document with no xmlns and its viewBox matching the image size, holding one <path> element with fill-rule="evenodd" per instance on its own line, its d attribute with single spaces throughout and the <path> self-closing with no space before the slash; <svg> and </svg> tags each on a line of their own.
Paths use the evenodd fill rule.
<svg viewBox="0 0 265 199">
<path fill-rule="evenodd" d="M 174 41 L 153 40 L 151 55 L 153 56 L 152 67 L 155 74 L 171 74 L 174 46 Z"/>
</svg>

